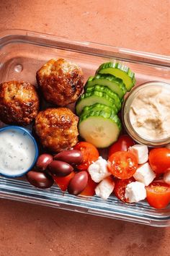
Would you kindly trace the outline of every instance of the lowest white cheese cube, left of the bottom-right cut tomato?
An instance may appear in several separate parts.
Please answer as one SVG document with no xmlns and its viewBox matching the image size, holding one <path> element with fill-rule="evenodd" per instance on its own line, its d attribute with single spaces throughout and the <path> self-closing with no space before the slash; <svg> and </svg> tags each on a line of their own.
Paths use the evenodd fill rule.
<svg viewBox="0 0 170 256">
<path fill-rule="evenodd" d="M 141 182 L 131 182 L 125 189 L 125 198 L 128 202 L 139 202 L 146 198 L 146 188 Z"/>
</svg>

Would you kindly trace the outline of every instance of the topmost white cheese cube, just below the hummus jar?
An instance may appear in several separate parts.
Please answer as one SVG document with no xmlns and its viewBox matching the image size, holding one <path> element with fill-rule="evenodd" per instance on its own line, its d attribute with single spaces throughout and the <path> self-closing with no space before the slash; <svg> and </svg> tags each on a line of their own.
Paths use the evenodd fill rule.
<svg viewBox="0 0 170 256">
<path fill-rule="evenodd" d="M 148 161 L 148 147 L 146 145 L 134 145 L 128 148 L 138 158 L 138 163 L 146 163 Z"/>
</svg>

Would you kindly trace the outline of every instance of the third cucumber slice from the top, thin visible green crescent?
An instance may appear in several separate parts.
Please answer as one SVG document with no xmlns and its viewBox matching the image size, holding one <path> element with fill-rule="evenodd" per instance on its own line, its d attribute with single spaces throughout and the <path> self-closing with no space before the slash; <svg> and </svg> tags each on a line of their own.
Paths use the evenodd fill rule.
<svg viewBox="0 0 170 256">
<path fill-rule="evenodd" d="M 86 93 L 94 92 L 94 90 L 97 90 L 98 92 L 102 92 L 102 93 L 107 93 L 107 95 L 115 101 L 115 106 L 117 107 L 118 111 L 120 111 L 122 103 L 120 101 L 119 96 L 116 93 L 114 93 L 112 90 L 110 90 L 106 86 L 102 86 L 102 85 L 90 86 L 86 88 Z"/>
</svg>

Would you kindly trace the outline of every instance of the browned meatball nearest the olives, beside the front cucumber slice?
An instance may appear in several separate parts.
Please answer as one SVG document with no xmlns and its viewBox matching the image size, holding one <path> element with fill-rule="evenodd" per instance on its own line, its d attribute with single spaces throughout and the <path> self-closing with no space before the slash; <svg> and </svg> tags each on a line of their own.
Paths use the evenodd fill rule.
<svg viewBox="0 0 170 256">
<path fill-rule="evenodd" d="M 69 108 L 47 108 L 35 119 L 35 133 L 43 148 L 54 153 L 68 150 L 78 141 L 78 120 Z"/>
</svg>

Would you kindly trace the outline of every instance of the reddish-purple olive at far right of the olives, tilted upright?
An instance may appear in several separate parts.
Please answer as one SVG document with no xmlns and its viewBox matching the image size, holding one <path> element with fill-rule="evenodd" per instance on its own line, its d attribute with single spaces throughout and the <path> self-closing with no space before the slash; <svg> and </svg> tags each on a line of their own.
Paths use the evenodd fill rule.
<svg viewBox="0 0 170 256">
<path fill-rule="evenodd" d="M 68 193 L 72 195 L 79 195 L 86 187 L 88 182 L 88 174 L 86 171 L 80 171 L 73 176 L 68 184 Z"/>
</svg>

